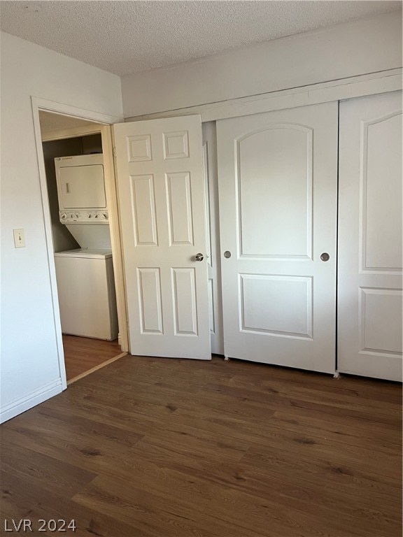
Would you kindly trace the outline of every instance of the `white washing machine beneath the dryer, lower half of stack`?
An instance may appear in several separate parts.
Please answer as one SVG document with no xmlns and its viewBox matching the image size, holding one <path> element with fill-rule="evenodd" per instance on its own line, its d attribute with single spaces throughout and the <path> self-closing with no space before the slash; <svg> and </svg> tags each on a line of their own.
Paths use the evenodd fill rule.
<svg viewBox="0 0 403 537">
<path fill-rule="evenodd" d="M 56 252 L 55 266 L 63 334 L 116 339 L 118 314 L 111 250 Z"/>
</svg>

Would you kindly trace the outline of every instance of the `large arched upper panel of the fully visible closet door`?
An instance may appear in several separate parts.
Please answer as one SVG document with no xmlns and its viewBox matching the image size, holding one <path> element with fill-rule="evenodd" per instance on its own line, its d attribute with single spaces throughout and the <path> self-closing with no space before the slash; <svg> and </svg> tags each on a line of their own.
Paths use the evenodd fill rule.
<svg viewBox="0 0 403 537">
<path fill-rule="evenodd" d="M 247 134 L 235 158 L 241 257 L 311 257 L 311 129 L 283 124 Z"/>
</svg>

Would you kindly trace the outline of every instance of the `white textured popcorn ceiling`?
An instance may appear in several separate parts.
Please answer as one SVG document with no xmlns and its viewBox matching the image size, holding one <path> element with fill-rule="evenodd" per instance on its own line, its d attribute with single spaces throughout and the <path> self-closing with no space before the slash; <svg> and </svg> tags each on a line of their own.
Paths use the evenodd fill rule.
<svg viewBox="0 0 403 537">
<path fill-rule="evenodd" d="M 0 1 L 0 27 L 125 76 L 398 9 L 401 1 Z"/>
</svg>

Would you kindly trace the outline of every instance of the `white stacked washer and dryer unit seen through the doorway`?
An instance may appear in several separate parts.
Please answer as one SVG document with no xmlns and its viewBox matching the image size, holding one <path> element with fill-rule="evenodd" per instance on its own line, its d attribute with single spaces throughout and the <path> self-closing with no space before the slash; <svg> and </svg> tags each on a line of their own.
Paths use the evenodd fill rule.
<svg viewBox="0 0 403 537">
<path fill-rule="evenodd" d="M 55 159 L 59 220 L 79 249 L 55 252 L 63 334 L 118 337 L 111 235 L 101 154 Z"/>
</svg>

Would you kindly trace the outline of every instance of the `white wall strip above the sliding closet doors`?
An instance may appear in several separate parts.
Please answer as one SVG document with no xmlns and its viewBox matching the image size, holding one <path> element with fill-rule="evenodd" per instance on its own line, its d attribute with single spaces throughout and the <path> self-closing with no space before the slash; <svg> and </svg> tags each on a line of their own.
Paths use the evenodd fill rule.
<svg viewBox="0 0 403 537">
<path fill-rule="evenodd" d="M 126 118 L 402 66 L 395 11 L 122 78 Z"/>
</svg>

